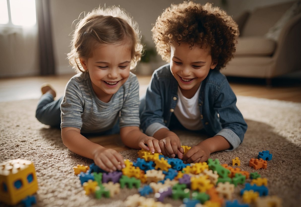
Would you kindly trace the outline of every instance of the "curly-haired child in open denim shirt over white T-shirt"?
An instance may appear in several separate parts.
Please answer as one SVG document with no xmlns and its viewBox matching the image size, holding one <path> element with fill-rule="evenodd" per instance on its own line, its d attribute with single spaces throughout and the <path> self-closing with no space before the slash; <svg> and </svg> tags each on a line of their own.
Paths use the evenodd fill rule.
<svg viewBox="0 0 301 207">
<path fill-rule="evenodd" d="M 153 73 L 141 99 L 143 131 L 159 140 L 164 155 L 178 155 L 187 163 L 207 161 L 213 152 L 237 148 L 247 124 L 219 72 L 235 52 L 237 24 L 209 3 L 184 2 L 166 8 L 152 33 L 157 52 L 170 63 Z M 181 142 L 169 128 L 205 130 L 210 138 L 183 156 Z"/>
</svg>

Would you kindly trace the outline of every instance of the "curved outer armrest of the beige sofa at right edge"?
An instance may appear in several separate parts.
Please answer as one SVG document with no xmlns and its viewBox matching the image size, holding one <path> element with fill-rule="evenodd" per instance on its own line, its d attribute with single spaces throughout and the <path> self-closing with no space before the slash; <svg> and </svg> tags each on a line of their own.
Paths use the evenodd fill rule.
<svg viewBox="0 0 301 207">
<path fill-rule="evenodd" d="M 301 14 L 296 15 L 281 30 L 273 55 L 274 66 L 269 77 L 273 78 L 301 69 Z"/>
</svg>

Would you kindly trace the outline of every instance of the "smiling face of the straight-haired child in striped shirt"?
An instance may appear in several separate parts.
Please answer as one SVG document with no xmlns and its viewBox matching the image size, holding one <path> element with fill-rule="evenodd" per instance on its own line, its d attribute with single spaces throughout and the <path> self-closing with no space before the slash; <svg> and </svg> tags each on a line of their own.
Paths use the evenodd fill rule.
<svg viewBox="0 0 301 207">
<path fill-rule="evenodd" d="M 109 102 L 113 94 L 129 78 L 131 64 L 131 45 L 100 44 L 93 51 L 92 57 L 80 62 L 88 70 L 92 88 L 97 97 Z"/>
</svg>

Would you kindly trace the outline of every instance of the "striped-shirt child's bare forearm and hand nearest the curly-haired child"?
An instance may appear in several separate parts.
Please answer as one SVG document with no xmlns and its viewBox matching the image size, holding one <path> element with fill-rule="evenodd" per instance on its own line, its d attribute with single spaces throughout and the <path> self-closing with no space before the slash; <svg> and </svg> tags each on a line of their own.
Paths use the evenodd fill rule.
<svg viewBox="0 0 301 207">
<path fill-rule="evenodd" d="M 125 126 L 120 128 L 120 137 L 123 143 L 134 149 L 143 148 L 150 150 L 152 153 L 161 152 L 159 141 L 154 137 L 149 137 L 142 133 L 138 126 Z"/>
</svg>

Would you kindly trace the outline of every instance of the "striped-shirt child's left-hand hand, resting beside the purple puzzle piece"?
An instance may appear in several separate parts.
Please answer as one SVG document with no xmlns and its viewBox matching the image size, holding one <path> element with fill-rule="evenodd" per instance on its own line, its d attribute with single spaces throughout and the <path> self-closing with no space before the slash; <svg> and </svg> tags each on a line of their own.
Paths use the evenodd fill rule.
<svg viewBox="0 0 301 207">
<path fill-rule="evenodd" d="M 98 167 L 107 172 L 121 170 L 126 167 L 123 157 L 116 150 L 110 148 L 101 148 L 95 151 L 93 160 Z"/>
</svg>

